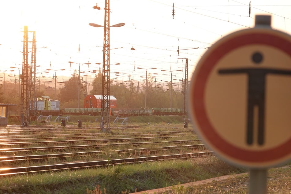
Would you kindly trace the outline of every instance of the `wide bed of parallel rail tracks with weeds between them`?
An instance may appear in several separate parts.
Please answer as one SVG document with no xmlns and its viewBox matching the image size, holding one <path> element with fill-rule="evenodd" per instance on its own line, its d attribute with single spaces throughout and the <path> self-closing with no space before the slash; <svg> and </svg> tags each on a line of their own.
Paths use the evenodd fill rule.
<svg viewBox="0 0 291 194">
<path fill-rule="evenodd" d="M 183 126 L 0 129 L 0 176 L 212 155 Z"/>
</svg>

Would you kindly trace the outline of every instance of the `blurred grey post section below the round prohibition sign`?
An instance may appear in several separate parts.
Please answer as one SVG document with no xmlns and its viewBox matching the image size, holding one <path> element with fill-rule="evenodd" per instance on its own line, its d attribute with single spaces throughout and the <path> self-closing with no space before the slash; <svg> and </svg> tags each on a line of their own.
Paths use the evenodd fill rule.
<svg viewBox="0 0 291 194">
<path fill-rule="evenodd" d="M 249 194 L 267 194 L 267 169 L 250 169 Z"/>
</svg>

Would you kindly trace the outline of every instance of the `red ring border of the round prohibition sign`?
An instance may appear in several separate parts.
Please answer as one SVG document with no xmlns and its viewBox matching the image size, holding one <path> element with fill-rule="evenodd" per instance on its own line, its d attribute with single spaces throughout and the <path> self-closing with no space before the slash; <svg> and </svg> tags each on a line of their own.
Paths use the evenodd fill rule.
<svg viewBox="0 0 291 194">
<path fill-rule="evenodd" d="M 246 33 L 247 32 L 247 33 Z M 277 32 L 274 35 L 274 32 Z M 241 33 L 241 34 L 240 34 Z M 290 38 L 286 39 L 286 35 L 282 32 L 274 30 L 257 30 L 255 28 L 242 30 L 237 32 L 238 35 L 233 33 L 233 36 L 226 36 L 221 39 L 222 43 L 209 50 L 205 59 L 202 63 L 199 63 L 198 73 L 195 73 L 196 78 L 194 79 L 192 95 L 193 101 L 193 112 L 195 113 L 196 121 L 203 131 L 200 131 L 206 138 L 207 142 L 210 142 L 216 149 L 223 152 L 224 154 L 245 162 L 271 162 L 274 160 L 280 160 L 290 155 L 291 151 L 291 139 L 281 144 L 280 146 L 264 150 L 264 151 L 249 151 L 239 147 L 233 146 L 226 142 L 213 126 L 210 124 L 204 102 L 204 92 L 208 76 L 211 73 L 213 67 L 217 64 L 225 54 L 238 47 L 246 46 L 249 44 L 264 44 L 272 47 L 276 47 L 282 52 L 288 54 L 291 57 L 291 42 Z M 279 35 L 279 36 L 278 36 Z M 283 35 L 285 37 L 283 37 Z M 213 46 L 213 47 L 214 47 Z M 199 81 L 197 81 L 199 80 Z"/>
</svg>

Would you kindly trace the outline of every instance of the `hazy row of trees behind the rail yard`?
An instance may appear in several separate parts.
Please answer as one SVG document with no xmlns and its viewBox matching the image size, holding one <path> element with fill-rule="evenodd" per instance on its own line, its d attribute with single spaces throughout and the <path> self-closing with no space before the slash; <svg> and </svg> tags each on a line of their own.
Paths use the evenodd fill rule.
<svg viewBox="0 0 291 194">
<path fill-rule="evenodd" d="M 170 108 L 170 104 L 172 104 L 172 108 L 183 108 L 183 86 L 181 86 L 180 91 L 178 91 L 173 88 L 173 84 L 170 82 L 167 82 L 165 86 L 156 84 L 150 73 L 148 74 L 147 90 L 145 90 L 145 84 L 145 80 L 139 82 L 131 80 L 127 81 L 126 84 L 114 84 L 113 80 L 110 80 L 110 95 L 114 95 L 117 99 L 118 108 L 144 108 L 145 100 L 147 109 Z M 6 91 L 4 91 L 3 85 L 0 85 L 0 103 L 17 104 L 18 106 L 11 106 L 9 109 L 10 111 L 15 112 L 15 114 L 19 114 L 21 93 L 18 89 L 18 85 L 16 86 L 16 83 L 15 85 L 12 83 L 6 83 L 5 86 Z M 79 106 L 82 108 L 84 107 L 84 98 L 87 94 L 101 95 L 102 73 L 99 72 L 95 75 L 95 78 L 92 81 L 91 91 L 87 91 L 86 88 L 86 81 L 83 79 L 80 79 L 79 81 L 78 73 L 75 71 L 72 74 L 72 77 L 65 81 L 61 88 L 56 90 L 56 100 L 60 100 L 60 108 L 77 108 L 78 99 Z M 47 95 L 50 96 L 50 99 L 54 99 L 54 89 L 54 87 L 39 84 L 37 85 L 36 95 Z"/>
</svg>

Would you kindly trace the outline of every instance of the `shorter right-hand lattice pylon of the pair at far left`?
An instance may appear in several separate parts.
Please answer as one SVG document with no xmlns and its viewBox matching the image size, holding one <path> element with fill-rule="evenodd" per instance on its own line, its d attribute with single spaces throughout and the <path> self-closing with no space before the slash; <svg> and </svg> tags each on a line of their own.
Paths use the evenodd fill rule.
<svg viewBox="0 0 291 194">
<path fill-rule="evenodd" d="M 31 65 L 30 65 L 30 103 L 31 103 L 31 113 L 36 116 L 37 106 L 36 106 L 36 40 L 35 40 L 35 31 L 33 31 L 33 38 L 32 38 L 32 51 L 31 51 Z"/>
</svg>

